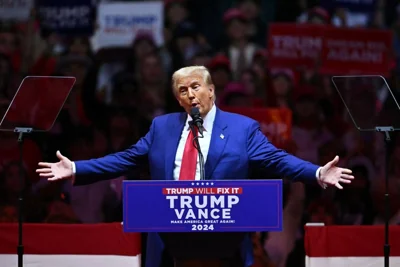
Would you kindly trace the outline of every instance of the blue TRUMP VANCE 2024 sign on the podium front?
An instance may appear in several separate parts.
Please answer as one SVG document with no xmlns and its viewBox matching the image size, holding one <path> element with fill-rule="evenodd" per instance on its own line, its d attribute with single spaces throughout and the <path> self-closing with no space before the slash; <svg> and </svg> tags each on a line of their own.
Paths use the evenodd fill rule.
<svg viewBox="0 0 400 267">
<path fill-rule="evenodd" d="M 123 184 L 125 232 L 276 232 L 282 209 L 282 180 Z"/>
</svg>

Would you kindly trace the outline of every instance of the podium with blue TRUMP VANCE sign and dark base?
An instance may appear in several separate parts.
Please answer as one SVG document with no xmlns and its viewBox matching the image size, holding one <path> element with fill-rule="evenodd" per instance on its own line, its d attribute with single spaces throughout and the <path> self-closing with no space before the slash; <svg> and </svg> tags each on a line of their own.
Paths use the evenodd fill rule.
<svg viewBox="0 0 400 267">
<path fill-rule="evenodd" d="M 282 203 L 282 180 L 124 181 L 123 229 L 158 233 L 175 262 L 224 260 L 282 231 Z"/>
</svg>

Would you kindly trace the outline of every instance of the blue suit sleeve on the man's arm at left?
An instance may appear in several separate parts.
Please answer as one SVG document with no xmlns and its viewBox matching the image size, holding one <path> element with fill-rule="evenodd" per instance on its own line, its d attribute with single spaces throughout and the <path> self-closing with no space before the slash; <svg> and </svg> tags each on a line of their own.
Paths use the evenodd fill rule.
<svg viewBox="0 0 400 267">
<path fill-rule="evenodd" d="M 74 185 L 86 185 L 100 180 L 113 179 L 138 167 L 147 158 L 155 129 L 155 121 L 150 131 L 130 148 L 109 154 L 102 158 L 76 161 Z"/>
</svg>

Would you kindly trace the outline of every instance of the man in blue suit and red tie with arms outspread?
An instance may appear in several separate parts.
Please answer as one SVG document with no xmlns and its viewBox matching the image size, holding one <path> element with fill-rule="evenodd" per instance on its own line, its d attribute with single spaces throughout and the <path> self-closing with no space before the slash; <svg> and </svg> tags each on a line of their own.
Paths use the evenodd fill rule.
<svg viewBox="0 0 400 267">
<path fill-rule="evenodd" d="M 149 132 L 125 151 L 102 158 L 71 162 L 57 151 L 59 162 L 39 163 L 41 177 L 50 181 L 70 179 L 85 185 L 118 177 L 148 160 L 152 179 L 200 179 L 197 150 L 192 145 L 190 110 L 197 107 L 204 121 L 199 139 L 205 160 L 205 179 L 247 179 L 254 170 L 292 181 L 315 182 L 342 189 L 350 183 L 351 170 L 336 167 L 336 156 L 325 166 L 316 166 L 274 147 L 260 131 L 259 124 L 247 117 L 224 112 L 215 105 L 214 85 L 205 67 L 192 66 L 176 71 L 172 87 L 183 113 L 155 118 Z M 188 142 L 186 142 L 189 140 Z M 159 267 L 164 244 L 158 234 L 149 234 L 147 267 Z M 252 245 L 242 246 L 242 266 L 252 264 Z"/>
</svg>

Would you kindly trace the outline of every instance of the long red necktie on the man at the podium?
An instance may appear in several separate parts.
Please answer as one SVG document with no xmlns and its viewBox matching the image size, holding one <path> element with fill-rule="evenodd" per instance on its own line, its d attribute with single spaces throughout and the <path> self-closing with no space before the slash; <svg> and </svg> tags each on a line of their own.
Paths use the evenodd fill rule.
<svg viewBox="0 0 400 267">
<path fill-rule="evenodd" d="M 197 128 L 195 127 L 197 133 Z M 183 151 L 181 171 L 179 180 L 194 180 L 197 167 L 197 149 L 193 145 L 193 131 L 189 130 L 186 140 L 185 150 Z"/>
</svg>

